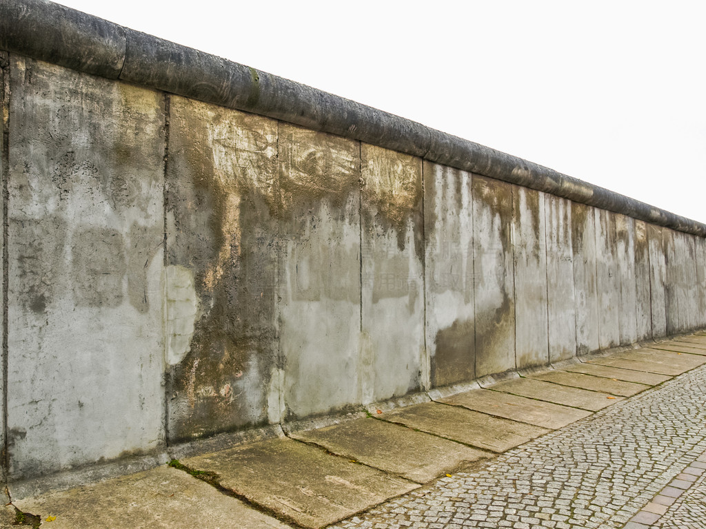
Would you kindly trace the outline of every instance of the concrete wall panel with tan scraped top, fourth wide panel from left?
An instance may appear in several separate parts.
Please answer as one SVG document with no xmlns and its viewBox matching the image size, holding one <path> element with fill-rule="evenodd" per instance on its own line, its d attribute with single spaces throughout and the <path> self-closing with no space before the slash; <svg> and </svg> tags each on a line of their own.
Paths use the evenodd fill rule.
<svg viewBox="0 0 706 529">
<path fill-rule="evenodd" d="M 361 145 L 361 401 L 421 389 L 424 225 L 421 159 Z M 394 367 L 391 367 L 394 366 Z"/>
</svg>

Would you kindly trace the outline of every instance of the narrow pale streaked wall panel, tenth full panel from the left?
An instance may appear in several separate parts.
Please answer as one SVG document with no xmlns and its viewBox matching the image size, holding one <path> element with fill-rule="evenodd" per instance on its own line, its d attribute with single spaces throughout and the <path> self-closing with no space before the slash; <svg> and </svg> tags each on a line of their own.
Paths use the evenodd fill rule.
<svg viewBox="0 0 706 529">
<path fill-rule="evenodd" d="M 618 245 L 616 214 L 595 209 L 596 217 L 596 285 L 598 296 L 598 342 L 601 349 L 620 343 L 620 280 L 618 277 Z"/>
</svg>

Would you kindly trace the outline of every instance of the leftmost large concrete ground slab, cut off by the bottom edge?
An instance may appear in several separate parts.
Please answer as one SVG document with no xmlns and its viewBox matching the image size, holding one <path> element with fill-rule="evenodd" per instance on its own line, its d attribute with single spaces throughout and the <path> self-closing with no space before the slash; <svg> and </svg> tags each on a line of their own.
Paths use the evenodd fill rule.
<svg viewBox="0 0 706 529">
<path fill-rule="evenodd" d="M 42 527 L 56 529 L 288 527 L 167 466 L 14 503 L 21 511 L 41 516 Z M 47 521 L 49 516 L 56 518 Z"/>
</svg>

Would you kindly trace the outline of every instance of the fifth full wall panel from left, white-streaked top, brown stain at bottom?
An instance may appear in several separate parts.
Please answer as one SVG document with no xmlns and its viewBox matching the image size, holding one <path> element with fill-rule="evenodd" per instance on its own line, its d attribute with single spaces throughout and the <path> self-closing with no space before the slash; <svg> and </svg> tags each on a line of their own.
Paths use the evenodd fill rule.
<svg viewBox="0 0 706 529">
<path fill-rule="evenodd" d="M 426 348 L 431 387 L 475 377 L 471 175 L 424 162 Z"/>
</svg>

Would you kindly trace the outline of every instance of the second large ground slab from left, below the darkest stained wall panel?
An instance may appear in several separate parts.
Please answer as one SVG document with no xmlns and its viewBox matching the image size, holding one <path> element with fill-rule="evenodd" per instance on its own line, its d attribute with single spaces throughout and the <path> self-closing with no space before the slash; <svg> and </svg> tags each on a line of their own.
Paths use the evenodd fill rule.
<svg viewBox="0 0 706 529">
<path fill-rule="evenodd" d="M 293 439 L 271 439 L 187 458 L 222 487 L 306 528 L 322 528 L 419 487 Z"/>
</svg>

